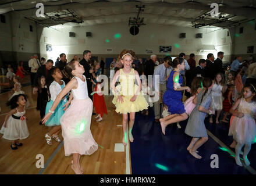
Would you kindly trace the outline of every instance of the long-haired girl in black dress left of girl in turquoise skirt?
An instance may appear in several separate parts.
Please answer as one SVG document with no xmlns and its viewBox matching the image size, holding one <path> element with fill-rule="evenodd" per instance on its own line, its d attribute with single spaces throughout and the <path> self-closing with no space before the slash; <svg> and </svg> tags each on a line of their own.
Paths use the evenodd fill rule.
<svg viewBox="0 0 256 186">
<path fill-rule="evenodd" d="M 36 94 L 35 89 L 33 89 L 33 94 Z M 40 110 L 41 119 L 45 115 L 45 108 L 48 102 L 48 88 L 45 85 L 45 77 L 41 76 L 38 78 L 37 84 L 37 110 Z M 39 124 L 42 124 L 41 121 Z"/>
</svg>

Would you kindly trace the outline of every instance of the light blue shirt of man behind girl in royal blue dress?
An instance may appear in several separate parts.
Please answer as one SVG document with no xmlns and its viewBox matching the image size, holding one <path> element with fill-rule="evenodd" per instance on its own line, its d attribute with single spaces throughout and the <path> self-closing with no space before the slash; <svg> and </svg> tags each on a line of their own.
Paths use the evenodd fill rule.
<svg viewBox="0 0 256 186">
<path fill-rule="evenodd" d="M 166 83 L 166 77 L 169 76 L 170 72 L 173 70 L 173 68 L 170 66 L 169 68 L 167 68 L 166 70 L 166 77 L 165 77 L 165 65 L 164 63 L 162 63 L 161 65 L 158 65 L 157 67 L 155 67 L 154 70 L 154 76 L 153 76 L 153 87 L 155 88 L 155 91 L 159 92 L 159 87 L 155 87 L 155 81 L 158 80 L 158 77 L 155 75 L 159 76 L 159 83 L 160 84 L 165 84 Z"/>
</svg>

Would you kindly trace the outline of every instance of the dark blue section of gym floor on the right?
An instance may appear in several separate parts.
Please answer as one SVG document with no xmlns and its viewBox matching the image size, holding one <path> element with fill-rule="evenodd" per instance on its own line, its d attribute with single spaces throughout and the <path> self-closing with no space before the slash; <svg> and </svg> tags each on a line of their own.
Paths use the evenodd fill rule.
<svg viewBox="0 0 256 186">
<path fill-rule="evenodd" d="M 229 124 L 209 124 L 208 118 L 205 123 L 226 146 L 232 143 L 232 137 L 227 135 Z M 202 159 L 195 159 L 186 149 L 191 141 L 191 137 L 184 133 L 186 124 L 187 120 L 180 122 L 180 129 L 176 123 L 170 124 L 163 135 L 151 108 L 148 116 L 136 113 L 134 142 L 130 143 L 132 174 L 251 174 L 246 168 L 237 166 L 234 158 L 211 137 L 198 149 Z M 253 169 L 256 168 L 255 148 L 256 145 L 252 145 L 248 155 Z M 210 166 L 212 154 L 219 157 L 218 169 Z"/>
</svg>

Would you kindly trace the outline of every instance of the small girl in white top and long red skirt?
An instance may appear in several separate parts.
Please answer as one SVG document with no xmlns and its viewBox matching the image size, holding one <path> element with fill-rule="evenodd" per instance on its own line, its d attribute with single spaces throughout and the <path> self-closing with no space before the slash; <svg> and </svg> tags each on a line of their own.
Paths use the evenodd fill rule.
<svg viewBox="0 0 256 186">
<path fill-rule="evenodd" d="M 106 103 L 104 99 L 104 94 L 101 91 L 102 87 L 104 86 L 104 82 L 100 83 L 99 82 L 99 76 L 96 78 L 97 83 L 95 83 L 93 80 L 91 82 L 95 85 L 95 90 L 93 94 L 93 106 L 95 107 L 95 112 L 98 114 L 95 119 L 97 122 L 102 121 L 102 117 L 104 113 L 108 115 L 108 110 L 106 110 Z"/>
</svg>

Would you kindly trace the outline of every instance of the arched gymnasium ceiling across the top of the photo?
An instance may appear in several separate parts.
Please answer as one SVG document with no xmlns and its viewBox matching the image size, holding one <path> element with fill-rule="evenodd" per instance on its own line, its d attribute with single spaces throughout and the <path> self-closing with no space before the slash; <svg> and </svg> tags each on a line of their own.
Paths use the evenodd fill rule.
<svg viewBox="0 0 256 186">
<path fill-rule="evenodd" d="M 44 4 L 45 17 L 36 17 L 35 5 Z M 219 4 L 219 15 L 211 17 L 211 3 Z M 137 6 L 145 6 L 139 8 Z M 88 26 L 106 23 L 157 23 L 183 27 L 216 26 L 228 28 L 254 21 L 256 0 L 1 0 L 0 14 L 17 12 L 44 27 L 58 24 Z"/>
</svg>

